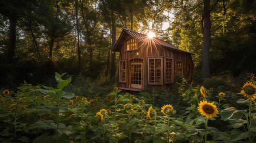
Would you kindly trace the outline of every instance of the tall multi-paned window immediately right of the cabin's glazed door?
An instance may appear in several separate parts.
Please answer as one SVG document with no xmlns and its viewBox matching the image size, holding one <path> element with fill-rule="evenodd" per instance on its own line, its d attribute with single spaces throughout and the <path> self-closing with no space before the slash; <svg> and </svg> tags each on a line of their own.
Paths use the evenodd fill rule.
<svg viewBox="0 0 256 143">
<path fill-rule="evenodd" d="M 162 84 L 162 58 L 148 58 L 148 82 Z"/>
</svg>

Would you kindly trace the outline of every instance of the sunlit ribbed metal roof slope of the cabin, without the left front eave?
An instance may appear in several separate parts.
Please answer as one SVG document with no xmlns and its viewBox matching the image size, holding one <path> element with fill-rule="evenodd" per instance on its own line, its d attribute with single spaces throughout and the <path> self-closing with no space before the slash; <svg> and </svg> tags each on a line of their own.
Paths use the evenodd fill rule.
<svg viewBox="0 0 256 143">
<path fill-rule="evenodd" d="M 145 40 L 146 38 L 148 38 L 148 35 L 146 34 L 142 34 L 142 33 L 138 33 L 136 31 L 133 31 L 133 30 L 130 30 L 130 29 L 127 29 L 127 28 L 124 28 L 122 27 L 122 29 L 124 29 L 123 31 L 126 31 L 126 33 L 128 33 L 129 35 L 131 35 L 132 37 L 134 38 L 137 38 L 139 40 Z M 123 33 L 123 32 L 122 32 Z M 121 36 L 121 35 L 120 35 Z M 181 50 L 179 48 L 177 48 L 176 46 L 174 46 L 173 44 L 169 43 L 169 42 L 166 42 L 164 40 L 161 40 L 157 37 L 153 37 L 152 40 L 155 42 L 155 44 L 159 45 L 159 46 L 165 46 L 165 47 L 168 47 L 168 48 L 173 48 L 177 51 L 182 51 L 182 52 L 186 52 L 186 53 L 190 53 L 190 52 L 187 52 L 187 51 L 184 51 L 184 50 Z M 193 54 L 193 53 L 190 53 L 190 54 Z"/>
</svg>

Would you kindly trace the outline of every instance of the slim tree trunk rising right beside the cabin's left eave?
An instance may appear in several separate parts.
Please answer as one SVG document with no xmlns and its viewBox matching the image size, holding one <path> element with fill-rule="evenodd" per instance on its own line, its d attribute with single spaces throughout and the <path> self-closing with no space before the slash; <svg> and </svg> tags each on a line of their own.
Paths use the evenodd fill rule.
<svg viewBox="0 0 256 143">
<path fill-rule="evenodd" d="M 115 20 L 112 20 L 112 49 L 116 44 L 116 25 Z M 113 51 L 111 55 L 111 70 L 110 70 L 110 78 L 116 76 L 116 53 Z"/>
</svg>

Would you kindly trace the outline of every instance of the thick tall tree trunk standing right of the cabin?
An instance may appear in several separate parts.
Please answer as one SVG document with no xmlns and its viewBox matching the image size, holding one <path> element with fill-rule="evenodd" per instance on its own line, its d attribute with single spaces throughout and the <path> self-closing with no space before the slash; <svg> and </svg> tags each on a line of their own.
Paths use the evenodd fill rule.
<svg viewBox="0 0 256 143">
<path fill-rule="evenodd" d="M 210 0 L 204 0 L 203 11 L 203 48 L 202 48 L 202 70 L 207 77 L 210 76 L 209 51 L 211 45 L 211 20 L 210 20 Z"/>
</svg>

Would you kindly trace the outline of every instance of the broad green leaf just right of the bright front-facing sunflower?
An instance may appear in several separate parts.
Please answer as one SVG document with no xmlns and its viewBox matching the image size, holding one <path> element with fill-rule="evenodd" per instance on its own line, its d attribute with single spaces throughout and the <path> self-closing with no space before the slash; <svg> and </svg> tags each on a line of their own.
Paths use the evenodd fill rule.
<svg viewBox="0 0 256 143">
<path fill-rule="evenodd" d="M 240 119 L 243 117 L 247 110 L 234 110 L 232 108 L 226 108 L 220 112 L 220 116 L 222 120 L 229 119 Z"/>
</svg>

